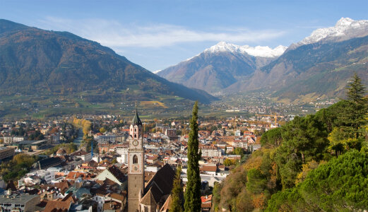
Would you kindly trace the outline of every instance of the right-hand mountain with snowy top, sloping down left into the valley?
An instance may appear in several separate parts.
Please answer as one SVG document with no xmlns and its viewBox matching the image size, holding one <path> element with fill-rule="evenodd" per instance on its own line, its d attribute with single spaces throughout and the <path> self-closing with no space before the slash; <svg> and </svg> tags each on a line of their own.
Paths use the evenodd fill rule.
<svg viewBox="0 0 368 212">
<path fill-rule="evenodd" d="M 368 79 L 368 37 L 362 37 L 362 28 L 368 34 L 367 20 L 342 18 L 333 28 L 315 30 L 256 70 L 251 78 L 225 91 L 268 90 L 274 98 L 286 102 L 342 97 L 345 83 L 354 72 L 364 81 Z"/>
</svg>

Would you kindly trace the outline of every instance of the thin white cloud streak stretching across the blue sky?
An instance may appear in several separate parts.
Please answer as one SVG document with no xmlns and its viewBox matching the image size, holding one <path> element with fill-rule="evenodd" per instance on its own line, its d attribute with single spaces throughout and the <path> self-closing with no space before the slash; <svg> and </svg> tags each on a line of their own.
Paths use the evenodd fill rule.
<svg viewBox="0 0 368 212">
<path fill-rule="evenodd" d="M 112 48 L 119 47 L 165 47 L 184 42 L 260 42 L 285 34 L 280 30 L 248 30 L 222 28 L 221 30 L 191 30 L 179 25 L 163 23 L 123 25 L 116 20 L 84 19 L 71 20 L 47 17 L 39 20 L 38 27 L 48 30 L 69 31 L 81 37 L 100 42 Z"/>
</svg>

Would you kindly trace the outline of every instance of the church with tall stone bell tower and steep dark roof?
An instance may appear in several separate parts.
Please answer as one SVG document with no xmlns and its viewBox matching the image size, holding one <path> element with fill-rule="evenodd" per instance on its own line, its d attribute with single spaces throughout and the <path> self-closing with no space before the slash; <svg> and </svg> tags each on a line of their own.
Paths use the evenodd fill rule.
<svg viewBox="0 0 368 212">
<path fill-rule="evenodd" d="M 175 172 L 166 164 L 145 186 L 143 127 L 137 110 L 131 121 L 128 141 L 128 211 L 165 211 L 170 201 Z"/>
</svg>

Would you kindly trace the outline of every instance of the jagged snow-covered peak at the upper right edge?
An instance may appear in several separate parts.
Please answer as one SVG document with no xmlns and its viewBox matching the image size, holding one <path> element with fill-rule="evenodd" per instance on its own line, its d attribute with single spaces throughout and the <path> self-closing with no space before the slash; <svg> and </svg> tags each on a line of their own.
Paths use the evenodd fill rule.
<svg viewBox="0 0 368 212">
<path fill-rule="evenodd" d="M 352 20 L 340 18 L 331 28 L 319 28 L 314 30 L 309 37 L 305 37 L 297 45 L 307 45 L 320 40 L 348 40 L 353 37 L 368 35 L 368 20 Z"/>
</svg>

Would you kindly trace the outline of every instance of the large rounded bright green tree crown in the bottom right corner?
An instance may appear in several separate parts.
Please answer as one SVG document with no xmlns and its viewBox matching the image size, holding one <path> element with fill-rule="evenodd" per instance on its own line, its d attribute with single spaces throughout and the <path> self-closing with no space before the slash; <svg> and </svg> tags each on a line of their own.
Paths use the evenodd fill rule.
<svg viewBox="0 0 368 212">
<path fill-rule="evenodd" d="M 319 165 L 299 191 L 321 211 L 363 211 L 368 206 L 368 155 L 349 151 Z"/>
</svg>

